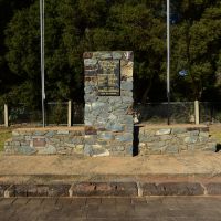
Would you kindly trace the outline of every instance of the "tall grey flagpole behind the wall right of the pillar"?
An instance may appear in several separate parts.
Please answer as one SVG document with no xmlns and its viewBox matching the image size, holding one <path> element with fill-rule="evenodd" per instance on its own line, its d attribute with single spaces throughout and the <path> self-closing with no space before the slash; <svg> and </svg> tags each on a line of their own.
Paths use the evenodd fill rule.
<svg viewBox="0 0 221 221">
<path fill-rule="evenodd" d="M 167 0 L 167 124 L 170 125 L 170 0 Z"/>
</svg>

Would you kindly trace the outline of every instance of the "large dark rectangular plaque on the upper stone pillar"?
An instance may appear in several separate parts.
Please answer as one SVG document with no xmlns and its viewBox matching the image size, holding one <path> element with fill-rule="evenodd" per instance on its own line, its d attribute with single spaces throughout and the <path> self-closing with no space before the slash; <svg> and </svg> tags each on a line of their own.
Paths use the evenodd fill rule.
<svg viewBox="0 0 221 221">
<path fill-rule="evenodd" d="M 120 95 L 120 73 L 119 60 L 98 61 L 99 70 L 98 95 L 99 96 L 119 96 Z"/>
</svg>

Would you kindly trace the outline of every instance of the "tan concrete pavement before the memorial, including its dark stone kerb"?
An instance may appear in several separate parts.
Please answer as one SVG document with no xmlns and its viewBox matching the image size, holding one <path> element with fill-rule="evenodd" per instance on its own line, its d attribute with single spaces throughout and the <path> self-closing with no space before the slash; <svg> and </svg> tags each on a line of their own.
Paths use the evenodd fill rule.
<svg viewBox="0 0 221 221">
<path fill-rule="evenodd" d="M 221 194 L 220 175 L 220 152 L 98 158 L 1 154 L 0 196 Z"/>
</svg>

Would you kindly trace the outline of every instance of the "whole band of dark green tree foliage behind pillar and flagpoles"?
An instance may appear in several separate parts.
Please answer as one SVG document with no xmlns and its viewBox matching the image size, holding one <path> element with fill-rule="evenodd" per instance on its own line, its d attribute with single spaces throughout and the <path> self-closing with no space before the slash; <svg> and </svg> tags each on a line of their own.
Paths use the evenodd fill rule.
<svg viewBox="0 0 221 221">
<path fill-rule="evenodd" d="M 8 88 L 0 96 L 35 106 L 41 101 L 39 0 L 13 4 L 13 10 L 6 2 L 0 0 L 10 9 L 1 23 L 0 84 Z M 171 10 L 172 99 L 219 97 L 220 2 L 173 0 Z M 45 0 L 49 101 L 83 102 L 82 54 L 98 50 L 134 51 L 136 102 L 166 99 L 165 0 Z"/>
</svg>

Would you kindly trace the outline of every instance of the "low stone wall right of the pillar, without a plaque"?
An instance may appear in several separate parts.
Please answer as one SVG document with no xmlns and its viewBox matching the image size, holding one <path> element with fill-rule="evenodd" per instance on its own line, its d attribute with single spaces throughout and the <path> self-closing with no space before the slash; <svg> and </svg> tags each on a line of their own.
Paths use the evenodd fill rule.
<svg viewBox="0 0 221 221">
<path fill-rule="evenodd" d="M 137 126 L 139 155 L 215 151 L 207 126 Z"/>
</svg>

